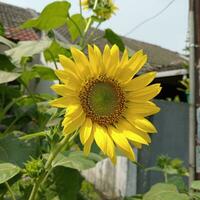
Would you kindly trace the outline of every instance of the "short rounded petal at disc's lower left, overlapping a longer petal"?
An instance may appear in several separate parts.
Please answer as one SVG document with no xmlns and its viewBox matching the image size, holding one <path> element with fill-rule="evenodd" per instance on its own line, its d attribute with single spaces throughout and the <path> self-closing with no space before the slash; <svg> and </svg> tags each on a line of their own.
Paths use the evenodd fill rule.
<svg viewBox="0 0 200 200">
<path fill-rule="evenodd" d="M 80 128 L 80 140 L 82 144 L 85 144 L 89 139 L 92 131 L 92 121 L 90 118 L 86 118 L 85 122 Z"/>
</svg>

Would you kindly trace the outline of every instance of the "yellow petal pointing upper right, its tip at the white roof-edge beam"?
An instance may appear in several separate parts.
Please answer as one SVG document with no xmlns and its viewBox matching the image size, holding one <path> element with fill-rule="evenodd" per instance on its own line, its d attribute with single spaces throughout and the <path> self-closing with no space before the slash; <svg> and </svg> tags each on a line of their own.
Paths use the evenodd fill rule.
<svg viewBox="0 0 200 200">
<path fill-rule="evenodd" d="M 135 90 L 143 89 L 149 83 L 151 83 L 155 77 L 156 77 L 156 72 L 149 72 L 149 73 L 140 75 L 130 80 L 127 84 L 125 84 L 124 90 L 135 91 Z"/>
</svg>

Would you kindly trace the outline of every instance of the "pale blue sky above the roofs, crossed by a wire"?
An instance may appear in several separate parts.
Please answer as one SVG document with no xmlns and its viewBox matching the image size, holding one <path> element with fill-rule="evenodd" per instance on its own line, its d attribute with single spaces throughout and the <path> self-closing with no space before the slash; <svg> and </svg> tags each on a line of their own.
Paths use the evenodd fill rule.
<svg viewBox="0 0 200 200">
<path fill-rule="evenodd" d="M 53 0 L 0 0 L 38 12 Z M 102 24 L 101 29 L 111 28 L 116 33 L 140 41 L 156 44 L 183 53 L 188 28 L 188 0 L 174 0 L 159 16 L 148 21 L 130 34 L 131 29 L 156 15 L 172 0 L 114 0 L 119 8 L 116 14 Z M 79 1 L 69 0 L 70 13 L 79 12 Z M 87 15 L 87 12 L 86 12 Z"/>
</svg>

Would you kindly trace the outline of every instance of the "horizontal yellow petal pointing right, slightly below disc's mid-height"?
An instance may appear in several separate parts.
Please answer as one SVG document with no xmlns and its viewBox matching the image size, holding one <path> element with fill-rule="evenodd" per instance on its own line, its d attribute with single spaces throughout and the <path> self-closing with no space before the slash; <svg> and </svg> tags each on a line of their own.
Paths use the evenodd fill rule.
<svg viewBox="0 0 200 200">
<path fill-rule="evenodd" d="M 128 102 L 126 105 L 127 105 L 126 112 L 132 116 L 134 116 L 135 114 L 139 114 L 144 117 L 147 117 L 156 114 L 160 111 L 160 108 L 150 101 L 141 103 Z"/>
</svg>

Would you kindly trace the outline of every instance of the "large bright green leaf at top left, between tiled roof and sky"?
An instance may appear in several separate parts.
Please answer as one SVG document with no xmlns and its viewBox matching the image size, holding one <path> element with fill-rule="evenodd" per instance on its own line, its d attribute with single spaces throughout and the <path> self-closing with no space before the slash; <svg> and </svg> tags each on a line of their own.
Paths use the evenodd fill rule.
<svg viewBox="0 0 200 200">
<path fill-rule="evenodd" d="M 47 5 L 40 16 L 22 24 L 21 28 L 38 28 L 49 31 L 64 25 L 67 21 L 71 4 L 67 1 L 56 1 Z"/>
</svg>

